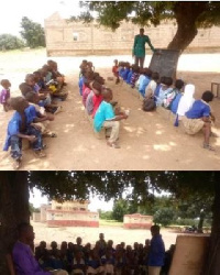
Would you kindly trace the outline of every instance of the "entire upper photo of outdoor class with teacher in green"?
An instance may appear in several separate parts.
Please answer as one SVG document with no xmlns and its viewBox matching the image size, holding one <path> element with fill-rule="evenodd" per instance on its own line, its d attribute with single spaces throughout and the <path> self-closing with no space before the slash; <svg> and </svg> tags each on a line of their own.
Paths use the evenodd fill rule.
<svg viewBox="0 0 220 275">
<path fill-rule="evenodd" d="M 1 170 L 219 169 L 220 2 L 20 3 L 0 18 Z"/>
</svg>

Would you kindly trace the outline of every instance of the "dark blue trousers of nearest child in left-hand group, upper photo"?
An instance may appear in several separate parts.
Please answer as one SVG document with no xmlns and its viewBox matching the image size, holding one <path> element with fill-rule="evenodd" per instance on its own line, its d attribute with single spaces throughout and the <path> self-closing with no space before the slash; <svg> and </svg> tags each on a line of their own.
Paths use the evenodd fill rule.
<svg viewBox="0 0 220 275">
<path fill-rule="evenodd" d="M 38 151 L 43 148 L 43 139 L 41 131 L 36 130 L 33 127 L 28 127 L 24 132 L 26 135 L 35 135 L 36 141 L 31 143 L 31 146 L 34 151 Z M 14 160 L 19 160 L 22 156 L 22 139 L 18 135 L 11 136 L 11 157 Z"/>
</svg>

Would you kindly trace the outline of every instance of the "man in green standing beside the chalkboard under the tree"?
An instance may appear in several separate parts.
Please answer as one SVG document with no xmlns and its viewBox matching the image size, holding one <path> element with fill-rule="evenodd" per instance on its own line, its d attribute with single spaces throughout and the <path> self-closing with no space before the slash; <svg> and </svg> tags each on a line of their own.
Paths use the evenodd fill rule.
<svg viewBox="0 0 220 275">
<path fill-rule="evenodd" d="M 155 48 L 153 47 L 153 45 L 151 44 L 151 40 L 147 35 L 144 35 L 144 29 L 140 29 L 140 34 L 135 35 L 134 38 L 134 45 L 133 45 L 133 50 L 132 50 L 132 55 L 134 56 L 134 62 L 135 65 L 143 68 L 144 65 L 144 59 L 145 59 L 145 44 L 148 44 L 148 46 L 151 47 L 152 52 L 155 52 Z"/>
</svg>

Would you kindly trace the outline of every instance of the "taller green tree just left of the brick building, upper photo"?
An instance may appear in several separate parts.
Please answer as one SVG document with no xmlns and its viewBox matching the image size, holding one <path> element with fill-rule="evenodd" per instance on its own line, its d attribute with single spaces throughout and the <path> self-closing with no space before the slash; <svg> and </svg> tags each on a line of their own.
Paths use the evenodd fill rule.
<svg viewBox="0 0 220 275">
<path fill-rule="evenodd" d="M 21 36 L 24 38 L 26 46 L 40 47 L 45 46 L 45 33 L 41 24 L 33 22 L 26 16 L 21 21 Z"/>
</svg>

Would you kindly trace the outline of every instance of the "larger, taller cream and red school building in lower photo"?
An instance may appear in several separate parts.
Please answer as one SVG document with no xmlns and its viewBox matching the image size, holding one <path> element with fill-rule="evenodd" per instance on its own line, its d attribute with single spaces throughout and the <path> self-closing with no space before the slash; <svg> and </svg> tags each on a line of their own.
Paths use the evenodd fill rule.
<svg viewBox="0 0 220 275">
<path fill-rule="evenodd" d="M 33 220 L 46 222 L 48 227 L 99 227 L 99 213 L 88 210 L 88 200 L 69 200 L 43 205 L 40 213 L 34 213 Z"/>
</svg>

